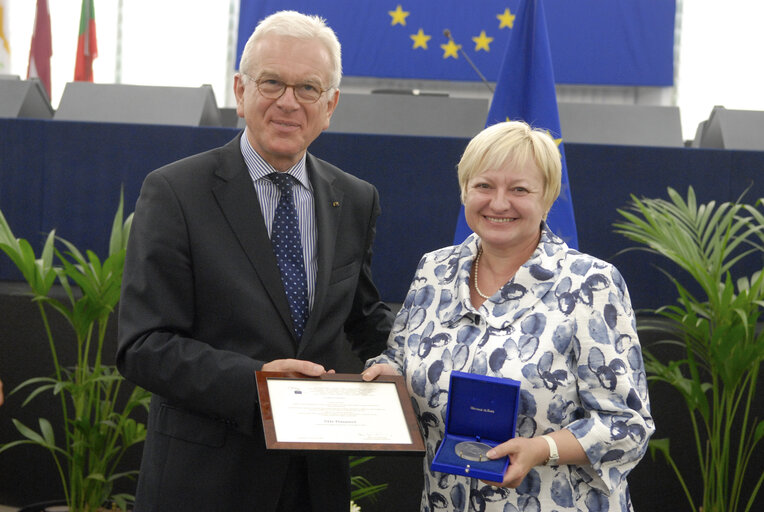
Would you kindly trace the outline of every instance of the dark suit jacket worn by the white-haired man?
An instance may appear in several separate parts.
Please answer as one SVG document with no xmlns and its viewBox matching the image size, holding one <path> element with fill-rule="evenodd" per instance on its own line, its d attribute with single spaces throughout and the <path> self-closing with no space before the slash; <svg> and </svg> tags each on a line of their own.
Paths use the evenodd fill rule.
<svg viewBox="0 0 764 512">
<path fill-rule="evenodd" d="M 117 365 L 154 396 L 136 512 L 272 511 L 288 458 L 266 454 L 255 370 L 365 360 L 392 324 L 371 279 L 376 189 L 308 155 L 318 229 L 315 301 L 299 343 L 239 135 L 149 174 L 127 249 Z M 348 510 L 347 457 L 307 457 L 316 512 Z"/>
</svg>

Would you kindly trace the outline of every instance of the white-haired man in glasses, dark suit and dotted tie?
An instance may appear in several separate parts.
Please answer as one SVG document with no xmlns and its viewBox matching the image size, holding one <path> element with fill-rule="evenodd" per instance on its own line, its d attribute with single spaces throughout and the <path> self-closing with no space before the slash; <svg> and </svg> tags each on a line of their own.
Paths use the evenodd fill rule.
<svg viewBox="0 0 764 512">
<path fill-rule="evenodd" d="M 340 45 L 323 20 L 269 16 L 239 71 L 243 134 L 152 172 L 135 209 L 117 364 L 154 393 L 135 510 L 344 512 L 347 457 L 265 452 L 255 371 L 317 376 L 347 341 L 361 359 L 383 350 L 379 199 L 307 153 L 339 99 Z M 299 212 L 291 248 L 303 256 L 288 270 L 282 198 Z"/>
</svg>

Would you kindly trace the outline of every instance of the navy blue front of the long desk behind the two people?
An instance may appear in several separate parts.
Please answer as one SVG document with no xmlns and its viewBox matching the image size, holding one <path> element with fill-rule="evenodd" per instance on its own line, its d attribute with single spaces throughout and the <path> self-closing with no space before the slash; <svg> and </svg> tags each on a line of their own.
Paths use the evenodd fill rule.
<svg viewBox="0 0 764 512">
<path fill-rule="evenodd" d="M 38 245 L 53 228 L 80 249 L 106 252 L 120 188 L 131 212 L 144 176 L 168 162 L 219 146 L 229 128 L 0 119 L 0 209 L 16 236 Z M 373 272 L 383 298 L 401 302 L 420 256 L 450 245 L 459 190 L 456 164 L 467 139 L 325 133 L 311 151 L 377 186 L 382 201 Z M 635 307 L 673 301 L 672 285 L 645 253 L 613 233 L 629 194 L 666 197 L 666 187 L 699 201 L 764 197 L 764 152 L 568 144 L 580 249 L 614 263 Z M 761 261 L 755 262 L 761 266 Z M 0 258 L 0 280 L 18 274 Z"/>
</svg>

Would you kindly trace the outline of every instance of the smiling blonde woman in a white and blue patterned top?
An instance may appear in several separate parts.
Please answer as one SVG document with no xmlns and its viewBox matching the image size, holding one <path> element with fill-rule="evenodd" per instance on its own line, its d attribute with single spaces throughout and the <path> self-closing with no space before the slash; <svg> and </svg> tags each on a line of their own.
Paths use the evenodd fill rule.
<svg viewBox="0 0 764 512">
<path fill-rule="evenodd" d="M 560 192 L 554 141 L 493 125 L 458 175 L 474 234 L 424 255 L 387 350 L 364 371 L 406 378 L 427 444 L 422 511 L 631 510 L 626 476 L 654 431 L 634 313 L 615 267 L 546 226 Z M 429 469 L 452 370 L 521 382 L 517 436 L 487 454 L 509 456 L 502 482 Z"/>
</svg>

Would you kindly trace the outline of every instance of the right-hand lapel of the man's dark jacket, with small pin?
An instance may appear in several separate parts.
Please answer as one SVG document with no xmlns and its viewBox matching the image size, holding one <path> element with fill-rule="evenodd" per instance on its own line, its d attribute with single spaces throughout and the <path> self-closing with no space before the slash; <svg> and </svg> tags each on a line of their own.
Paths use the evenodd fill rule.
<svg viewBox="0 0 764 512">
<path fill-rule="evenodd" d="M 322 306 L 326 303 L 325 297 L 334 263 L 337 229 L 343 203 L 342 191 L 333 186 L 334 179 L 331 173 L 327 172 L 324 164 L 308 154 L 307 169 L 310 182 L 313 185 L 313 206 L 316 210 L 318 268 L 316 270 L 313 309 L 305 326 L 298 355 L 305 348 L 307 340 L 310 340 L 316 331 L 318 321 L 321 318 Z"/>
</svg>

